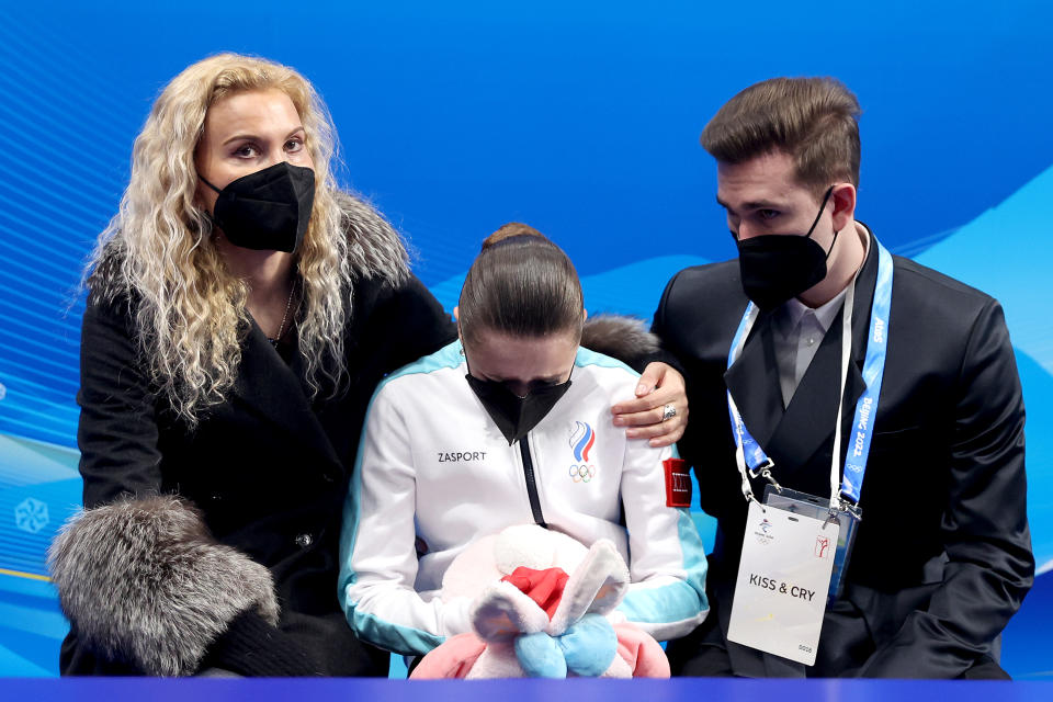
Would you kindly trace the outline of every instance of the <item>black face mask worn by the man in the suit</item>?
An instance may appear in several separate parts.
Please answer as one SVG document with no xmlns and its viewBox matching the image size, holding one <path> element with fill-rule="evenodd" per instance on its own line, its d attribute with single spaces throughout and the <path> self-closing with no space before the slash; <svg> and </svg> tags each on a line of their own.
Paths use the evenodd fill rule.
<svg viewBox="0 0 1053 702">
<path fill-rule="evenodd" d="M 761 309 L 774 309 L 826 278 L 826 259 L 834 250 L 834 244 L 830 244 L 829 251 L 824 251 L 812 238 L 812 233 L 833 192 L 831 185 L 823 196 L 819 214 L 804 236 L 766 234 L 744 241 L 736 239 L 743 291 Z M 837 235 L 835 231 L 834 242 L 837 242 Z"/>
</svg>

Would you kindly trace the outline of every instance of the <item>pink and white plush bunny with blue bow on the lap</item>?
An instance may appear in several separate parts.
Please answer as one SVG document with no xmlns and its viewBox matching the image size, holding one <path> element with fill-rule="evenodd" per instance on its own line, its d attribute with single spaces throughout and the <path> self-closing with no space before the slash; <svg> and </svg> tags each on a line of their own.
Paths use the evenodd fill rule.
<svg viewBox="0 0 1053 702">
<path fill-rule="evenodd" d="M 616 614 L 608 618 L 629 581 L 607 540 L 586 550 L 535 525 L 484 539 L 443 578 L 443 597 L 475 595 L 474 633 L 446 639 L 410 677 L 668 678 L 658 642 L 627 622 L 612 624 Z"/>
</svg>

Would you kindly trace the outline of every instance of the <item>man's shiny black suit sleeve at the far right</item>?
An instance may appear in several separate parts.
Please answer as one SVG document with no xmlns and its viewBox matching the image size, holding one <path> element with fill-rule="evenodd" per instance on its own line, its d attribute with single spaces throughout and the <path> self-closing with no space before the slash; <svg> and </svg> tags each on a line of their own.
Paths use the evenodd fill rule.
<svg viewBox="0 0 1053 702">
<path fill-rule="evenodd" d="M 951 480 L 941 524 L 949 562 L 925 611 L 912 612 L 861 675 L 953 678 L 988 653 L 1034 576 L 1027 517 L 1023 397 L 1000 306 L 973 325 L 959 374 Z M 914 673 L 916 675 L 916 672 Z"/>
</svg>

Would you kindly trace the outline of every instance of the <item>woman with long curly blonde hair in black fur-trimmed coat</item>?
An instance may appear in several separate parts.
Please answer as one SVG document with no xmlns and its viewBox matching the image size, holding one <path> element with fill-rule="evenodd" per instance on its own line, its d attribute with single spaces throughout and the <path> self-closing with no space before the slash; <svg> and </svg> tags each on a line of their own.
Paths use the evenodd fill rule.
<svg viewBox="0 0 1053 702">
<path fill-rule="evenodd" d="M 65 673 L 386 672 L 337 604 L 340 507 L 377 381 L 455 335 L 333 149 L 268 60 L 213 56 L 154 104 L 88 278 Z"/>
</svg>

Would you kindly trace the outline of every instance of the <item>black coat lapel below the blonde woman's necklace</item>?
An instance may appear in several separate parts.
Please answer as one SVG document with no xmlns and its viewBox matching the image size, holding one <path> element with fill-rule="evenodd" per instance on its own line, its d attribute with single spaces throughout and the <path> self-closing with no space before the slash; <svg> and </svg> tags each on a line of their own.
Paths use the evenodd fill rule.
<svg viewBox="0 0 1053 702">
<path fill-rule="evenodd" d="M 299 378 L 303 364 L 296 353 L 290 367 L 254 322 L 241 351 L 234 394 L 282 430 L 325 457 L 339 463 L 321 423 L 312 410 Z"/>
</svg>

